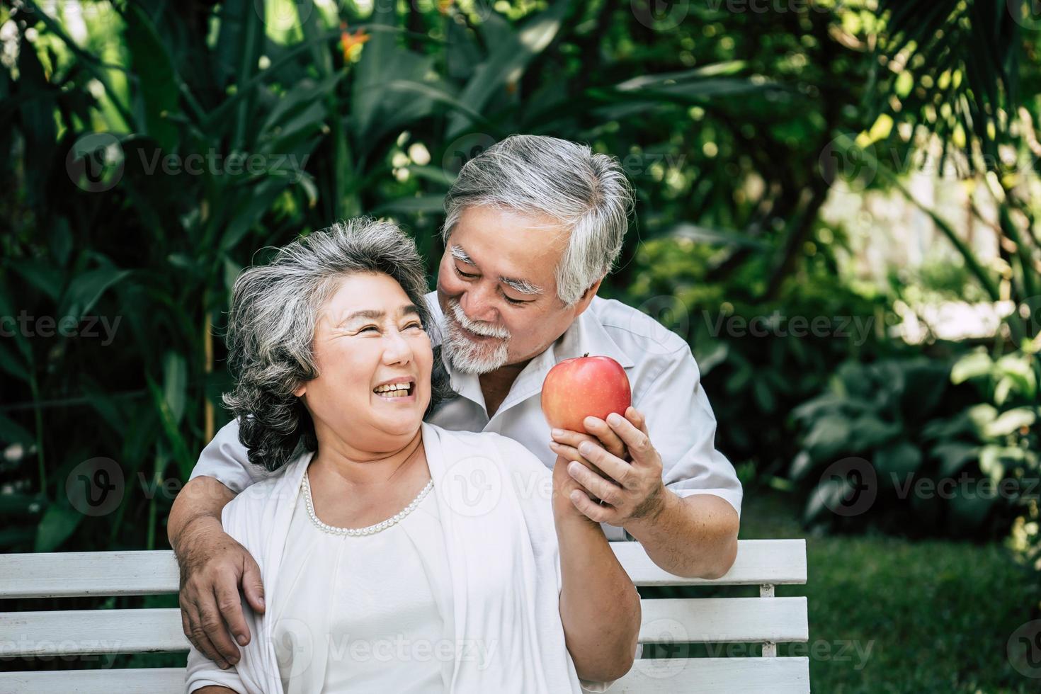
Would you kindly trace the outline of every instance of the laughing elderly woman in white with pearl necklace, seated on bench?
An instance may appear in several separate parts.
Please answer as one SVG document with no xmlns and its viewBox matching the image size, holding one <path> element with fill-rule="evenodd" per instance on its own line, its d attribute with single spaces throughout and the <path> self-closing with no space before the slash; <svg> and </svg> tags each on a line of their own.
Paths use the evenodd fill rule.
<svg viewBox="0 0 1041 694">
<path fill-rule="evenodd" d="M 192 650 L 188 692 L 578 693 L 632 666 L 639 596 L 566 463 L 423 421 L 451 394 L 425 290 L 414 243 L 370 220 L 235 283 L 225 402 L 268 473 L 223 522 L 268 600 L 243 601 L 235 667 Z"/>
</svg>

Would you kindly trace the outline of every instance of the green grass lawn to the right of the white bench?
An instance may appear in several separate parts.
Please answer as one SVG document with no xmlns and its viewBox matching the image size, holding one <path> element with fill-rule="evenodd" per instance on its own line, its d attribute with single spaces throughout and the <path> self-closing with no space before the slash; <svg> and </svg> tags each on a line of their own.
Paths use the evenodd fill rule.
<svg viewBox="0 0 1041 694">
<path fill-rule="evenodd" d="M 798 511 L 777 492 L 747 493 L 741 538 L 807 538 L 807 585 L 777 594 L 808 598 L 809 652 L 791 654 L 810 656 L 814 692 L 1041 691 L 1007 656 L 1012 633 L 1041 616 L 1039 596 L 999 544 L 807 537 Z"/>
</svg>

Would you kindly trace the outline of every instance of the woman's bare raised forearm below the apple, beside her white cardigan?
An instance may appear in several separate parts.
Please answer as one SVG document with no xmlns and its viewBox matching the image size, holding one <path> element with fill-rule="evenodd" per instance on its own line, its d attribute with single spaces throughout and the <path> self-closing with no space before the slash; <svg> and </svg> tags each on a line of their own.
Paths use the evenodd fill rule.
<svg viewBox="0 0 1041 694">
<path fill-rule="evenodd" d="M 557 519 L 560 617 L 567 650 L 583 679 L 617 679 L 632 666 L 640 598 L 598 523 Z"/>
</svg>

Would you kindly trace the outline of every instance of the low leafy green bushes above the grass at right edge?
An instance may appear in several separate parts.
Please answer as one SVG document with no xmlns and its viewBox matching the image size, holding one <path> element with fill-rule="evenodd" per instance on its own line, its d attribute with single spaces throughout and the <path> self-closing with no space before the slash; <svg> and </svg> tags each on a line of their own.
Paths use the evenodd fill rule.
<svg viewBox="0 0 1041 694">
<path fill-rule="evenodd" d="M 829 392 L 793 412 L 803 449 L 789 472 L 812 490 L 805 520 L 912 534 L 1007 532 L 1041 491 L 1032 360 L 972 352 L 947 363 L 843 364 Z M 844 483 L 835 488 L 820 473 L 848 458 L 866 460 L 877 475 L 869 514 L 831 513 Z"/>
</svg>

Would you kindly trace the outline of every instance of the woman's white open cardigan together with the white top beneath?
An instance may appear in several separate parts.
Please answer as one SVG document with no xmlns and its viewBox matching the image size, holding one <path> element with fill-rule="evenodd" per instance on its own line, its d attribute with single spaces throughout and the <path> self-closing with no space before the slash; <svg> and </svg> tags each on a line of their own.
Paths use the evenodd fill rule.
<svg viewBox="0 0 1041 694">
<path fill-rule="evenodd" d="M 453 432 L 428 422 L 422 429 L 433 480 L 425 500 L 433 504 L 421 504 L 423 511 L 416 508 L 414 517 L 400 526 L 362 537 L 314 536 L 311 531 L 321 531 L 302 525 L 311 521 L 299 515 L 306 513 L 301 485 L 312 454 L 224 507 L 225 531 L 260 566 L 270 595 L 268 612 L 256 614 L 243 600 L 253 638 L 228 670 L 192 648 L 186 692 L 207 685 L 238 694 L 398 692 L 409 687 L 445 694 L 581 694 L 583 687 L 606 691 L 609 683 L 580 686 L 567 652 L 550 470 L 504 436 Z M 426 511 L 436 512 L 439 522 L 430 522 Z M 359 539 L 361 543 L 354 542 Z M 377 551 L 375 543 L 381 542 L 402 544 Z M 372 551 L 362 559 L 367 549 Z M 337 562 L 337 569 L 361 568 L 349 574 L 308 571 L 308 563 L 320 561 Z M 328 583 L 300 584 L 322 574 L 331 576 Z M 281 606 L 287 598 L 299 602 Z M 441 618 L 440 631 L 435 614 Z M 391 624 L 382 623 L 384 619 Z M 393 657 L 381 662 L 386 646 L 375 646 L 387 639 L 393 641 Z M 413 642 L 404 643 L 407 639 Z M 276 645 L 279 641 L 284 643 Z M 352 656 L 351 645 L 358 642 L 373 644 L 367 660 L 364 646 L 356 646 Z M 440 687 L 428 656 L 440 668 Z M 341 687 L 355 676 L 364 684 Z M 295 684 L 298 677 L 301 682 Z M 388 677 L 393 682 L 383 679 Z"/>
</svg>

